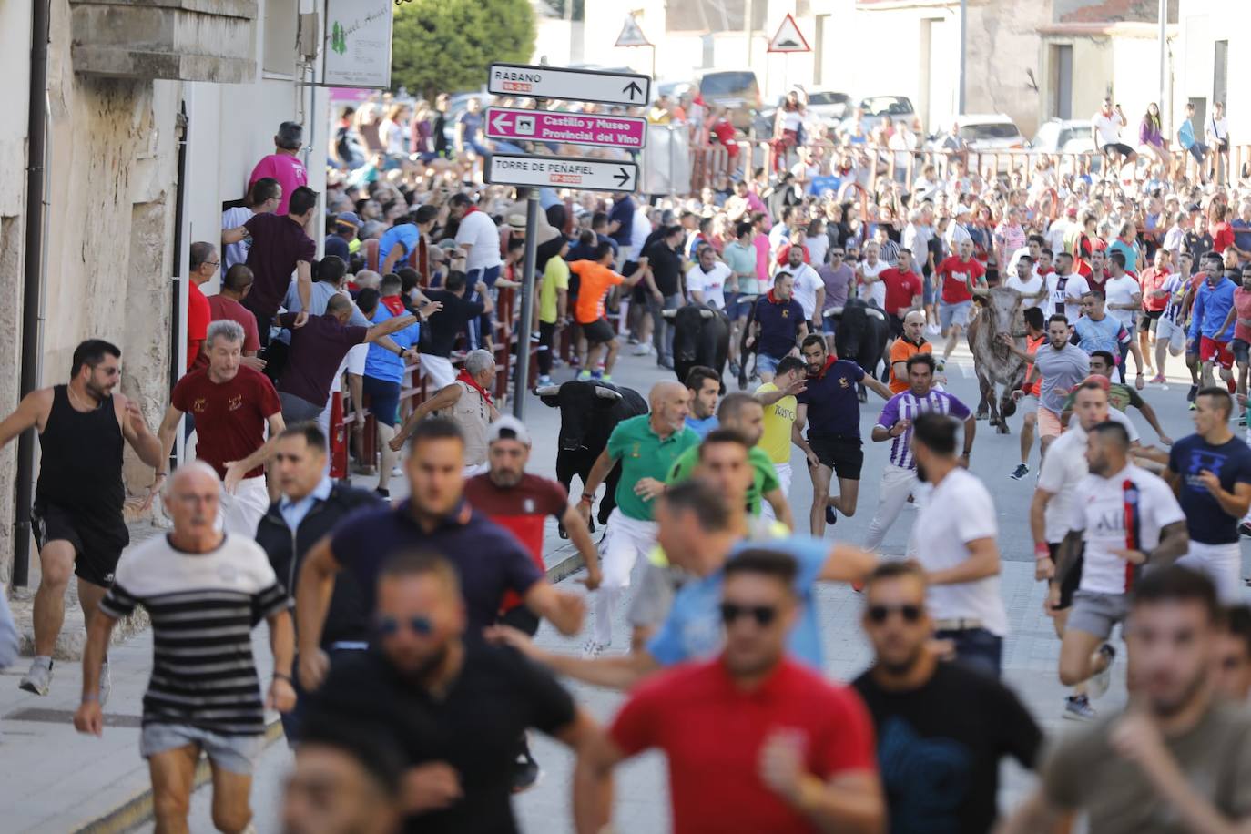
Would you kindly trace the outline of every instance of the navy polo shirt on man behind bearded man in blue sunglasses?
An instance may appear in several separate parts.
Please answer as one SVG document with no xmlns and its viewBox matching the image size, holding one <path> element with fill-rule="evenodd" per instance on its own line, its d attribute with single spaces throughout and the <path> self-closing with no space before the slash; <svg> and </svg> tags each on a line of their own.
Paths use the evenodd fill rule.
<svg viewBox="0 0 1251 834">
<path fill-rule="evenodd" d="M 355 513 L 334 529 L 330 550 L 352 571 L 370 614 L 378 603 L 378 574 L 392 556 L 415 550 L 442 555 L 460 574 L 474 630 L 495 623 L 505 590 L 524 596 L 543 578 L 517 536 L 464 501 L 432 533 L 417 523 L 408 501 Z"/>
</svg>

